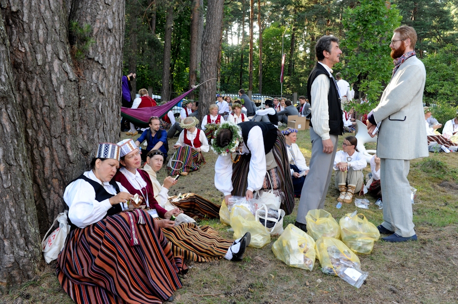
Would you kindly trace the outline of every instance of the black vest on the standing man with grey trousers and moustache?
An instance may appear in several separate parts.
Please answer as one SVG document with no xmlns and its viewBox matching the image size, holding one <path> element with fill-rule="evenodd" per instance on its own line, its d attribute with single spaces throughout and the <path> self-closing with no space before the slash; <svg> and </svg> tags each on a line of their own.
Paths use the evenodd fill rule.
<svg viewBox="0 0 458 304">
<path fill-rule="evenodd" d="M 324 74 L 329 78 L 329 93 L 328 93 L 328 107 L 329 107 L 329 134 L 333 135 L 342 135 L 343 132 L 343 119 L 342 119 L 342 109 L 341 109 L 341 99 L 339 97 L 339 91 L 337 90 L 337 83 L 333 77 L 329 76 L 328 71 L 320 64 L 316 63 L 315 68 L 310 72 L 309 79 L 307 80 L 307 96 L 309 98 L 310 104 L 312 105 L 312 83 L 315 78 Z M 312 119 L 313 113 L 311 113 L 310 118 Z M 310 127 L 312 126 L 312 121 L 310 121 Z"/>
</svg>

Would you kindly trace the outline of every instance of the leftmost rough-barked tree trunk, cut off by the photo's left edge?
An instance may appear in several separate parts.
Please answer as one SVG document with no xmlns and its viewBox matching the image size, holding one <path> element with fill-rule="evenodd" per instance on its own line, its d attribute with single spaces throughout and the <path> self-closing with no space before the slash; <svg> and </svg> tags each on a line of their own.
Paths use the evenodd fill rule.
<svg viewBox="0 0 458 304">
<path fill-rule="evenodd" d="M 9 52 L 0 13 L 0 294 L 9 285 L 33 279 L 41 259 L 25 125 Z"/>
</svg>

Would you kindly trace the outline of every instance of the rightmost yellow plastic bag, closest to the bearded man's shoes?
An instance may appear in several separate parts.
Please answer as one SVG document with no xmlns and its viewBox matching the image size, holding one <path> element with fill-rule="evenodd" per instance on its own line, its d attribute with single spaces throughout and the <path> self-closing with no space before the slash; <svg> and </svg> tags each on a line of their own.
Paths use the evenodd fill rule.
<svg viewBox="0 0 458 304">
<path fill-rule="evenodd" d="M 345 214 L 340 219 L 339 226 L 343 243 L 355 253 L 371 253 L 374 241 L 380 238 L 377 227 L 357 211 Z"/>
</svg>

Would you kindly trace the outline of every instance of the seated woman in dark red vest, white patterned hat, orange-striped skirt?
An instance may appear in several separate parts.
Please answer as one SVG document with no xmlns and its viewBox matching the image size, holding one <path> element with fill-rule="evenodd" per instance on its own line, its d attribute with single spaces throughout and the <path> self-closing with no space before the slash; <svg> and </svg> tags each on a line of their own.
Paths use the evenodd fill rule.
<svg viewBox="0 0 458 304">
<path fill-rule="evenodd" d="M 232 240 L 221 238 L 218 232 L 209 226 L 198 227 L 195 222 L 175 226 L 175 222 L 169 220 L 169 214 L 173 213 L 178 218 L 183 211 L 175 206 L 168 208 L 164 205 L 166 208 L 163 208 L 157 203 L 148 173 L 139 169 L 139 149 L 132 139 L 121 141 L 118 144 L 121 147 L 120 163 L 122 168 L 116 173 L 114 179 L 126 189 L 131 189 L 132 193 L 145 195 L 143 199 L 149 208 L 156 209 L 159 217 L 166 218 L 159 221 L 164 222 L 164 225 L 161 226 L 162 231 L 170 242 L 173 255 L 183 256 L 184 259 L 197 262 L 214 261 L 223 257 L 234 261 L 241 259 L 250 241 L 248 235 L 235 243 Z M 124 175 L 126 172 L 128 174 Z M 164 213 L 166 209 L 170 210 Z"/>
</svg>

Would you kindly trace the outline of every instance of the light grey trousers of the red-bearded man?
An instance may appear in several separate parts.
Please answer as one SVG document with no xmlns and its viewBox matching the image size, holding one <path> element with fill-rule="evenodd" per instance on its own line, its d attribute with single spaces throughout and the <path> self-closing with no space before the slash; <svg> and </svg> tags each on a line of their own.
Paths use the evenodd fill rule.
<svg viewBox="0 0 458 304">
<path fill-rule="evenodd" d="M 407 175 L 410 161 L 380 158 L 380 186 L 383 198 L 382 226 L 402 237 L 415 234 Z"/>
</svg>

